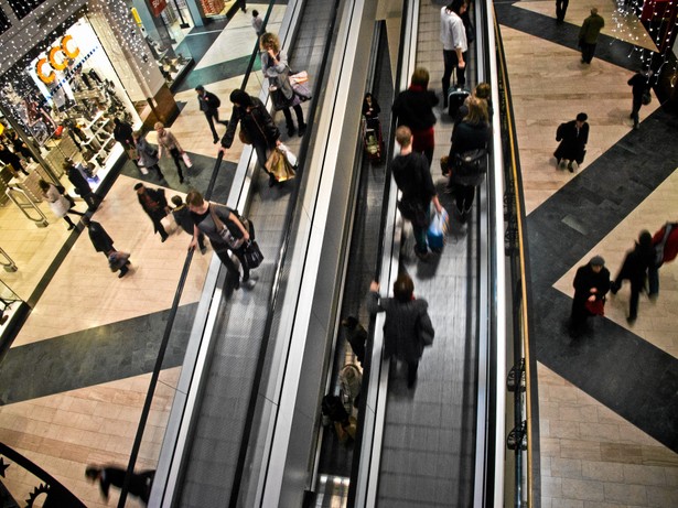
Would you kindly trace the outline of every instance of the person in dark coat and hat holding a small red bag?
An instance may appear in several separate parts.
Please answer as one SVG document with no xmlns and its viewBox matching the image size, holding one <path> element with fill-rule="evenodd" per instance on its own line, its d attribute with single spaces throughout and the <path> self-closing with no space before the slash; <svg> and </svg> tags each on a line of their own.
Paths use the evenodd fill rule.
<svg viewBox="0 0 678 508">
<path fill-rule="evenodd" d="M 605 304 L 605 294 L 610 291 L 610 270 L 605 268 L 605 260 L 601 256 L 594 256 L 586 264 L 579 267 L 572 285 L 574 298 L 570 314 L 570 335 L 578 337 L 584 331 L 589 317 L 595 315 L 592 309 L 603 307 Z"/>
</svg>

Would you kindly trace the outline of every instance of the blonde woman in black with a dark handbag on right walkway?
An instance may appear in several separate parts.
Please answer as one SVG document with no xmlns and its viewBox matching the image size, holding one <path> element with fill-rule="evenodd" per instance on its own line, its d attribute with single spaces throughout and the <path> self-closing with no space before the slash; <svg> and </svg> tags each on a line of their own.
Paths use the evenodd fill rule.
<svg viewBox="0 0 678 508">
<path fill-rule="evenodd" d="M 462 223 L 469 218 L 475 188 L 485 177 L 489 147 L 486 102 L 471 96 L 466 107 L 469 114 L 452 133 L 452 147 L 448 158 L 450 180 L 445 191 L 454 194 L 456 212 Z"/>
</svg>

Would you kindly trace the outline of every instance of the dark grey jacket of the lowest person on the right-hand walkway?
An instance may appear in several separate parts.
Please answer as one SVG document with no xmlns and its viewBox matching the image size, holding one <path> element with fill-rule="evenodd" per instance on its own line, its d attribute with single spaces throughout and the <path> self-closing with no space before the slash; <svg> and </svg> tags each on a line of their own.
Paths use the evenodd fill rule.
<svg viewBox="0 0 678 508">
<path fill-rule="evenodd" d="M 379 298 L 379 293 L 367 293 L 367 311 L 370 314 L 386 312 L 384 322 L 384 356 L 395 356 L 405 361 L 416 361 L 423 354 L 422 334 L 433 337 L 435 332 L 429 317 L 429 303 L 412 300 L 407 303 L 396 299 Z"/>
</svg>

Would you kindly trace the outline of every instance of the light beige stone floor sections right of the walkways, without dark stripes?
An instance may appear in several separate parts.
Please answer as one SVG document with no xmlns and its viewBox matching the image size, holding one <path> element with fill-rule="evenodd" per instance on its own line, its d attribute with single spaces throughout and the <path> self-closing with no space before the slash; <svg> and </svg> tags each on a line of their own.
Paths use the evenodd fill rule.
<svg viewBox="0 0 678 508">
<path fill-rule="evenodd" d="M 606 33 L 620 37 L 632 29 L 611 22 L 613 3 L 599 4 L 606 19 Z M 555 18 L 553 2 L 519 2 L 519 7 Z M 567 22 L 580 24 L 592 4 L 571 0 Z M 643 31 L 644 32 L 644 31 Z M 502 26 L 520 162 L 526 209 L 529 214 L 548 199 L 572 175 L 556 169 L 558 123 L 586 111 L 591 123 L 585 171 L 595 158 L 616 143 L 631 128 L 632 73 L 594 58 L 580 65 L 574 50 Z M 633 40 L 633 36 L 629 36 Z M 629 40 L 629 37 L 623 37 Z M 641 33 L 639 40 L 645 35 Z M 643 120 L 657 107 L 641 110 Z M 555 287 L 572 294 L 578 266 L 593 253 L 602 255 L 612 275 L 638 231 L 654 233 L 666 220 L 676 220 L 678 171 L 653 192 L 628 217 L 610 233 Z M 657 303 L 641 298 L 638 320 L 632 328 L 643 339 L 676 356 L 675 334 L 678 305 L 678 263 L 660 270 L 661 292 Z M 607 317 L 626 324 L 628 287 L 609 300 Z M 539 425 L 541 448 L 541 506 L 544 508 L 603 508 L 678 506 L 678 455 L 583 393 L 541 364 L 539 379 Z"/>
</svg>

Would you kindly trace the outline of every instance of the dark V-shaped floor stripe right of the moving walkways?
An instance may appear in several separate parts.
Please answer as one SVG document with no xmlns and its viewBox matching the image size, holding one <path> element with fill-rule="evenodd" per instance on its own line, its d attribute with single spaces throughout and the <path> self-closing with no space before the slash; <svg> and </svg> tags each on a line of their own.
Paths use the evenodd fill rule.
<svg viewBox="0 0 678 508">
<path fill-rule="evenodd" d="M 527 227 L 538 360 L 678 452 L 678 359 L 604 318 L 594 332 L 572 341 L 564 329 L 571 298 L 552 289 L 676 170 L 676 139 L 678 119 L 655 111 L 641 130 L 532 212 Z M 628 239 L 637 234 L 628 231 Z M 618 267 L 609 268 L 614 275 Z M 650 303 L 642 299 L 641 313 L 644 305 Z"/>
</svg>

